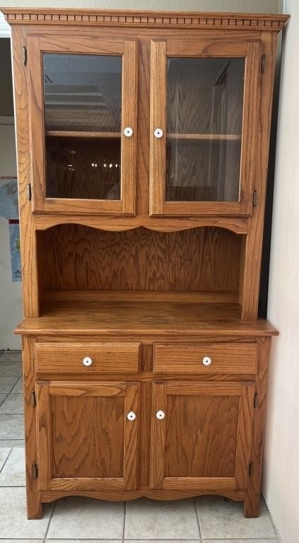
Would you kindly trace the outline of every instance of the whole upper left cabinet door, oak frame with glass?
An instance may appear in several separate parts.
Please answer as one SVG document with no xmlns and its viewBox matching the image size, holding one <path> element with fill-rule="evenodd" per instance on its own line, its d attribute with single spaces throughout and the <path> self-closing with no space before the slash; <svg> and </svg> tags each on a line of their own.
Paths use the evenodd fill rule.
<svg viewBox="0 0 299 543">
<path fill-rule="evenodd" d="M 136 41 L 30 37 L 28 59 L 35 211 L 134 214 Z"/>
</svg>

